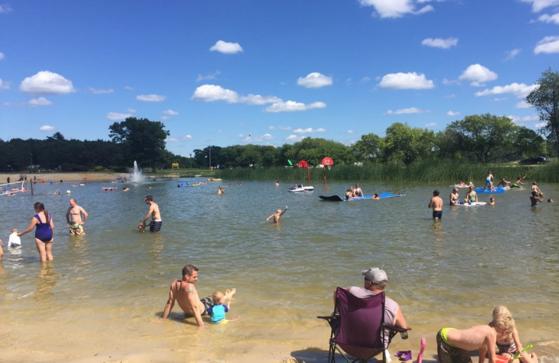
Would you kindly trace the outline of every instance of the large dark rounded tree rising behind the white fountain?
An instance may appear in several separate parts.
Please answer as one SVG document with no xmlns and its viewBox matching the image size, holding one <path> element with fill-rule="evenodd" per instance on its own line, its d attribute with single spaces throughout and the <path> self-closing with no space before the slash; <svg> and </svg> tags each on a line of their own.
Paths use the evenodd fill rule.
<svg viewBox="0 0 559 363">
<path fill-rule="evenodd" d="M 136 161 L 140 167 L 153 169 L 164 162 L 165 140 L 169 131 L 160 121 L 128 117 L 125 121 L 109 126 L 112 142 L 122 145 L 126 163 Z"/>
</svg>

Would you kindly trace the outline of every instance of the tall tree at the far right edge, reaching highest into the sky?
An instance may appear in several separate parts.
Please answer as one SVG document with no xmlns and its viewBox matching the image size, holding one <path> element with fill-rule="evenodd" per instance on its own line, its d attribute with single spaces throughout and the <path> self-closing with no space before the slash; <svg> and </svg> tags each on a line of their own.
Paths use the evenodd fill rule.
<svg viewBox="0 0 559 363">
<path fill-rule="evenodd" d="M 546 122 L 542 131 L 555 144 L 559 154 L 559 73 L 552 72 L 549 68 L 542 73 L 536 84 L 537 88 L 528 94 L 526 102 L 534 106 L 539 119 Z"/>
</svg>

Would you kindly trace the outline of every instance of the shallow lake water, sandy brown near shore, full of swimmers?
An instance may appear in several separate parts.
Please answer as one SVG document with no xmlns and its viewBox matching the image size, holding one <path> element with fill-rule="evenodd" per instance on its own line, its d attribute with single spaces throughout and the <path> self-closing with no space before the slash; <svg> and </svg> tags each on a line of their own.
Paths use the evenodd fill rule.
<svg viewBox="0 0 559 363">
<path fill-rule="evenodd" d="M 558 203 L 531 208 L 530 192 L 495 195 L 496 205 L 449 207 L 447 185 L 360 183 L 365 194 L 402 198 L 324 202 L 349 184 L 314 184 L 289 193 L 286 183 L 224 180 L 177 188 L 173 179 L 128 184 L 41 184 L 35 195 L 0 196 L 6 255 L 0 263 L 0 356 L 3 362 L 324 362 L 329 329 L 317 315 L 333 308 L 336 286 L 361 286 L 361 269 L 382 267 L 386 293 L 412 327 L 396 350 L 419 350 L 435 362 L 435 334 L 491 320 L 509 307 L 524 346 L 540 362 L 559 362 Z M 481 182 L 481 181 L 480 181 Z M 119 189 L 103 192 L 102 186 Z M 59 188 L 70 195 L 52 195 Z M 442 221 L 427 208 L 435 188 L 445 201 Z M 540 185 L 559 202 L 559 185 Z M 138 233 L 145 195 L 161 208 L 160 233 Z M 465 189 L 460 190 L 460 197 Z M 66 232 L 69 198 L 89 213 L 85 236 Z M 488 201 L 489 195 L 480 195 Z M 42 265 L 34 232 L 7 249 L 10 228 L 27 228 L 33 203 L 55 221 L 55 260 Z M 279 225 L 265 223 L 289 205 Z M 228 325 L 199 330 L 175 304 L 160 320 L 184 265 L 200 269 L 201 296 L 237 288 Z M 397 359 L 397 358 L 395 358 Z"/>
</svg>

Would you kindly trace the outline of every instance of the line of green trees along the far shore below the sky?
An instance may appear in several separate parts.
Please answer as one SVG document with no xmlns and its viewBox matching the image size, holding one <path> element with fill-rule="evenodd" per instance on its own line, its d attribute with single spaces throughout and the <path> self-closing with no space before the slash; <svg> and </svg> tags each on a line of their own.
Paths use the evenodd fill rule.
<svg viewBox="0 0 559 363">
<path fill-rule="evenodd" d="M 353 145 L 323 138 L 304 138 L 281 147 L 261 145 L 210 145 L 180 156 L 166 149 L 170 135 L 160 121 L 129 117 L 109 126 L 110 140 L 66 140 L 61 133 L 46 138 L 0 140 L 0 168 L 21 171 L 30 165 L 45 170 L 127 171 L 133 161 L 141 168 L 247 168 L 274 167 L 305 160 L 319 165 L 329 156 L 337 165 L 368 162 L 377 165 L 417 161 L 492 163 L 515 161 L 539 154 L 559 155 L 559 73 L 542 73 L 537 87 L 526 97 L 544 127 L 537 133 L 505 116 L 474 114 L 453 121 L 443 131 L 412 128 L 395 122 L 384 137 L 361 136 Z M 546 138 L 543 138 L 545 135 Z"/>
</svg>

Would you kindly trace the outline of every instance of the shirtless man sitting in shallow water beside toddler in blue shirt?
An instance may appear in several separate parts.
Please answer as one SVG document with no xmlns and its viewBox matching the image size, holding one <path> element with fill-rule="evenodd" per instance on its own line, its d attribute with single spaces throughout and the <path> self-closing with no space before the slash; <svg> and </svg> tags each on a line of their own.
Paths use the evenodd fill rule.
<svg viewBox="0 0 559 363">
<path fill-rule="evenodd" d="M 208 313 L 208 309 L 213 306 L 212 297 L 205 297 L 200 299 L 198 291 L 194 287 L 194 283 L 198 280 L 198 268 L 193 265 L 186 265 L 182 269 L 182 280 L 175 280 L 170 284 L 169 299 L 165 305 L 163 315 L 161 318 L 165 319 L 175 305 L 175 300 L 184 311 L 184 316 L 194 316 L 198 327 L 205 327 L 202 316 Z M 222 304 L 231 302 L 235 288 L 225 290 L 225 295 L 222 299 Z"/>
</svg>

